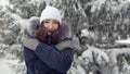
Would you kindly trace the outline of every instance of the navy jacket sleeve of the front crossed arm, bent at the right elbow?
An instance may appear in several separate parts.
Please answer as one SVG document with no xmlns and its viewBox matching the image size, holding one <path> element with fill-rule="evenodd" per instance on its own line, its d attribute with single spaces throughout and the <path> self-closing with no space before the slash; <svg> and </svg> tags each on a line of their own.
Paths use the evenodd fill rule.
<svg viewBox="0 0 130 74">
<path fill-rule="evenodd" d="M 40 42 L 36 48 L 35 53 L 48 66 L 62 73 L 67 72 L 73 62 L 72 48 L 66 48 L 66 50 L 60 52 L 55 48 Z"/>
</svg>

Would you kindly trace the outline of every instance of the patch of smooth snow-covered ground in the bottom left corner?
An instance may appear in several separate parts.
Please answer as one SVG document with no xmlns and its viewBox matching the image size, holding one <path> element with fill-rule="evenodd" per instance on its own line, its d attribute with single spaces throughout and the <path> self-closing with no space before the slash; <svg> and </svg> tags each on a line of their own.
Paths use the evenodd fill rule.
<svg viewBox="0 0 130 74">
<path fill-rule="evenodd" d="M 15 74 L 15 72 L 10 67 L 8 60 L 3 58 L 0 59 L 0 74 Z"/>
</svg>

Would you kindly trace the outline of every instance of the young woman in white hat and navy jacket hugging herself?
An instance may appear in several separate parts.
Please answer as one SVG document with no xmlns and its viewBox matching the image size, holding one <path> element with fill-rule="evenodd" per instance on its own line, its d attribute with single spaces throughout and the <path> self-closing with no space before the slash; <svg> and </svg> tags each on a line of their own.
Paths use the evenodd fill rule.
<svg viewBox="0 0 130 74">
<path fill-rule="evenodd" d="M 47 7 L 35 33 L 35 38 L 24 42 L 27 74 L 67 74 L 73 62 L 73 44 L 60 11 Z"/>
</svg>

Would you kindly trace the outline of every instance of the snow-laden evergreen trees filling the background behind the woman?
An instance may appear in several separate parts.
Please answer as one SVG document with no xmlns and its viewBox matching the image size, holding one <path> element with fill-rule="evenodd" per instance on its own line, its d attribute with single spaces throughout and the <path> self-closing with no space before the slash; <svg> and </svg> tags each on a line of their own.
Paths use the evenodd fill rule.
<svg viewBox="0 0 130 74">
<path fill-rule="evenodd" d="M 0 0 L 0 58 L 25 74 L 23 30 L 47 4 L 61 10 L 75 41 L 68 74 L 130 74 L 130 0 Z"/>
</svg>

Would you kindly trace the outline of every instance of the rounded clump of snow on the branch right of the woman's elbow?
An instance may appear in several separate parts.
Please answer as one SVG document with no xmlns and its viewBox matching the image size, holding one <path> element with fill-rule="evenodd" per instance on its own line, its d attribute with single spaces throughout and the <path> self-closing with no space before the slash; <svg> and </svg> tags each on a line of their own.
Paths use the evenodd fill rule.
<svg viewBox="0 0 130 74">
<path fill-rule="evenodd" d="M 109 61 L 108 55 L 104 51 L 94 47 L 89 47 L 89 49 L 82 53 L 81 58 L 86 58 L 86 62 L 93 62 L 93 53 L 98 55 L 95 61 L 99 64 L 105 64 Z"/>
</svg>

